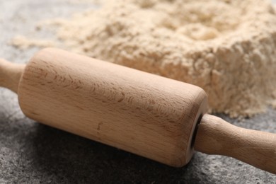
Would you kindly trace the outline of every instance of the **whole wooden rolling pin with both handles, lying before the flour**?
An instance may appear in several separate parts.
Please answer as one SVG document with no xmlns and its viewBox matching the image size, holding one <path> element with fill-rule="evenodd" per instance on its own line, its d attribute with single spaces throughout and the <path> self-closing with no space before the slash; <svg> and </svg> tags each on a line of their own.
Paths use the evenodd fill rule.
<svg viewBox="0 0 276 184">
<path fill-rule="evenodd" d="M 276 134 L 206 114 L 207 94 L 191 84 L 47 48 L 26 65 L 1 59 L 0 86 L 33 120 L 169 166 L 197 150 L 276 173 Z"/>
</svg>

